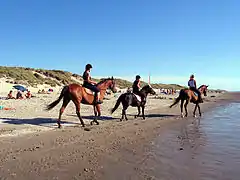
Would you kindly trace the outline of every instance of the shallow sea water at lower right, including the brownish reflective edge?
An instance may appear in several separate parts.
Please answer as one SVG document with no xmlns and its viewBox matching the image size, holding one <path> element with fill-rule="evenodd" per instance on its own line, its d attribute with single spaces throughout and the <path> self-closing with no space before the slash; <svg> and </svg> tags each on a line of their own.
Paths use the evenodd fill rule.
<svg viewBox="0 0 240 180">
<path fill-rule="evenodd" d="M 239 180 L 239 115 L 240 103 L 231 103 L 183 123 L 153 142 L 142 167 L 152 179 Z"/>
</svg>

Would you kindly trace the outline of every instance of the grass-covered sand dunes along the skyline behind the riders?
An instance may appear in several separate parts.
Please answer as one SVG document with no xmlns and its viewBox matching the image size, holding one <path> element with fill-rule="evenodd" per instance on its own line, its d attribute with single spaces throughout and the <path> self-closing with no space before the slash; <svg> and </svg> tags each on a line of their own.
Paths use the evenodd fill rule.
<svg viewBox="0 0 240 180">
<path fill-rule="evenodd" d="M 15 84 L 25 84 L 35 86 L 37 84 L 49 84 L 51 86 L 67 85 L 70 83 L 78 83 L 72 79 L 82 81 L 82 76 L 73 74 L 67 71 L 61 70 L 45 70 L 45 69 L 33 69 L 24 67 L 4 67 L 0 66 L 0 78 L 11 78 L 13 81 L 9 81 Z M 100 79 L 93 79 L 97 82 Z M 116 79 L 117 87 L 127 88 L 132 86 L 132 82 L 124 79 Z M 142 82 L 142 86 L 146 85 L 146 82 Z M 153 88 L 168 88 L 168 89 L 182 89 L 184 87 L 177 84 L 151 84 Z"/>
</svg>

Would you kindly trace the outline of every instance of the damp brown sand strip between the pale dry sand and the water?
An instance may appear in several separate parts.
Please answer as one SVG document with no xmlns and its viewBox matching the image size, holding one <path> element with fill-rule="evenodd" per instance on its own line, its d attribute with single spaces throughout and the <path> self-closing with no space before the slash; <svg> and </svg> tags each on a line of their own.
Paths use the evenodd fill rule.
<svg viewBox="0 0 240 180">
<path fill-rule="evenodd" d="M 201 105 L 203 116 L 204 112 L 229 103 L 238 95 L 227 93 L 204 103 Z M 189 105 L 189 110 L 192 108 Z M 189 111 L 189 115 L 191 113 Z M 146 120 L 107 121 L 92 126 L 89 132 L 73 126 L 1 139 L 0 174 L 9 179 L 151 178 L 151 171 L 149 173 L 143 167 L 151 143 L 156 137 L 169 134 L 174 142 L 179 141 L 179 138 L 172 137 L 171 129 L 191 124 L 193 118 L 182 120 L 179 106 L 149 110 L 147 114 Z M 164 147 L 168 150 L 167 146 Z M 181 148 L 173 147 L 176 151 Z M 168 155 L 171 156 L 171 151 Z"/>
</svg>

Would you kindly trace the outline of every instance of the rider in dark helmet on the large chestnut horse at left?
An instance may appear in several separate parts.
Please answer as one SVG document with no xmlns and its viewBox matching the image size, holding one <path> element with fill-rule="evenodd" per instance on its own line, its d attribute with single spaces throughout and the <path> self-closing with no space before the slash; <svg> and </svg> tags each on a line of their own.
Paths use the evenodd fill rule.
<svg viewBox="0 0 240 180">
<path fill-rule="evenodd" d="M 91 64 L 87 64 L 85 66 L 85 71 L 83 73 L 83 87 L 92 90 L 95 93 L 94 95 L 95 103 L 101 104 L 102 101 L 100 100 L 100 90 L 96 87 L 97 82 L 92 81 L 91 79 L 91 76 L 90 76 L 91 69 L 92 69 Z"/>
</svg>

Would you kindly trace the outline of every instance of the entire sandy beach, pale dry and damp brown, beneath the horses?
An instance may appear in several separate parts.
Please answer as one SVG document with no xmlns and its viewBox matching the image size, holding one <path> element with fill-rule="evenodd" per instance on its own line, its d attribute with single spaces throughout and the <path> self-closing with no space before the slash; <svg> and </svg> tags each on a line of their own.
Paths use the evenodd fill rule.
<svg viewBox="0 0 240 180">
<path fill-rule="evenodd" d="M 212 95 L 216 97 L 210 97 Z M 153 97 L 148 98 L 146 120 L 133 120 L 130 116 L 129 121 L 119 122 L 121 107 L 110 115 L 116 102 L 116 97 L 110 96 L 102 105 L 103 119 L 99 126 L 89 125 L 90 131 L 84 131 L 71 103 L 63 115 L 66 122 L 63 129 L 57 129 L 55 120 L 61 104 L 50 112 L 43 110 L 57 96 L 0 101 L 0 105 L 16 108 L 15 111 L 0 110 L 1 179 L 156 179 L 151 169 L 146 169 L 150 165 L 144 164 L 152 140 L 160 134 L 175 142 L 177 137 L 169 136 L 170 130 L 188 122 L 179 117 L 178 106 L 168 108 L 173 100 Z M 228 94 L 208 94 L 201 106 L 206 111 L 229 98 Z M 89 124 L 92 107 L 81 107 L 84 121 Z M 127 112 L 134 115 L 136 108 L 129 108 Z M 168 143 L 162 139 L 164 144 L 163 152 L 167 154 L 162 155 L 171 158 Z M 179 151 L 181 144 L 171 148 Z M 164 177 L 174 179 L 170 178 L 171 170 L 165 172 Z"/>
</svg>

